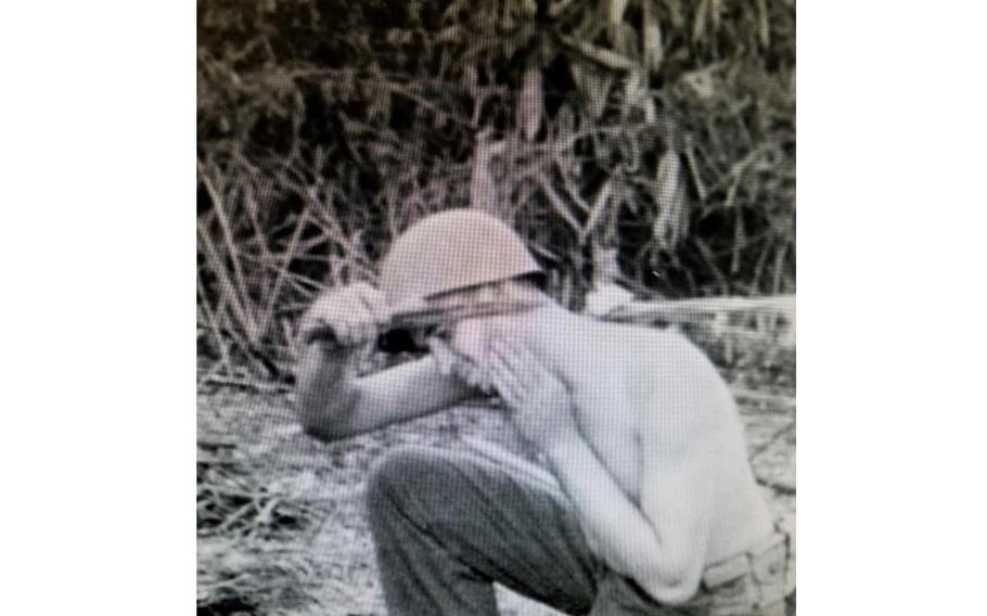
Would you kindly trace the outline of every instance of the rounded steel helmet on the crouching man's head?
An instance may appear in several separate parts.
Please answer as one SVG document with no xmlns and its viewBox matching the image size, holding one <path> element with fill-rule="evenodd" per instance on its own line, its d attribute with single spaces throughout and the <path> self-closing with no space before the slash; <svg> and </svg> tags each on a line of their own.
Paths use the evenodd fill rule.
<svg viewBox="0 0 987 616">
<path fill-rule="evenodd" d="M 449 291 L 541 273 L 524 242 L 500 219 L 449 209 L 409 227 L 381 266 L 381 290 L 397 310 Z"/>
</svg>

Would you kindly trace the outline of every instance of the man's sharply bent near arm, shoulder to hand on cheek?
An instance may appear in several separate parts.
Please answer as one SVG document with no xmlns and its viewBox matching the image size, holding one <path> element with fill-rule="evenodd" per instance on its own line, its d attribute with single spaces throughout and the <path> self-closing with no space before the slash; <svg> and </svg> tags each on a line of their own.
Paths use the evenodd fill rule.
<svg viewBox="0 0 987 616">
<path fill-rule="evenodd" d="M 495 352 L 498 390 L 514 410 L 515 425 L 546 455 L 597 554 L 659 602 L 692 598 L 705 564 L 713 504 L 705 447 L 713 415 L 703 372 L 663 380 L 681 386 L 661 388 L 653 411 L 642 413 L 648 418 L 641 425 L 639 509 L 579 434 L 565 386 L 529 354 L 502 347 Z"/>
</svg>

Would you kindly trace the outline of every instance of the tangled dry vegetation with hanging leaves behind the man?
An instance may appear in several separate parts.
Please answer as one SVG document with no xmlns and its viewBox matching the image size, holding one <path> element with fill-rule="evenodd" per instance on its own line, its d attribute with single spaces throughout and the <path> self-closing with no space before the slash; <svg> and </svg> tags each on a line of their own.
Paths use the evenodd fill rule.
<svg viewBox="0 0 987 616">
<path fill-rule="evenodd" d="M 200 0 L 200 348 L 282 378 L 298 311 L 448 207 L 574 308 L 795 290 L 795 5 Z"/>
</svg>

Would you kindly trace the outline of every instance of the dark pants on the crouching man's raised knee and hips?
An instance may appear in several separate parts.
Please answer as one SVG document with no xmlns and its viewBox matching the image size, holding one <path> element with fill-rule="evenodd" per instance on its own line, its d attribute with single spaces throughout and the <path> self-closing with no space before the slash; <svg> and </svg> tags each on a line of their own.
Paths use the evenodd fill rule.
<svg viewBox="0 0 987 616">
<path fill-rule="evenodd" d="M 773 599 L 756 609 L 744 578 L 658 605 L 592 554 L 554 478 L 507 453 L 403 447 L 375 469 L 368 505 L 393 615 L 496 615 L 492 582 L 567 614 L 782 613 Z"/>
</svg>

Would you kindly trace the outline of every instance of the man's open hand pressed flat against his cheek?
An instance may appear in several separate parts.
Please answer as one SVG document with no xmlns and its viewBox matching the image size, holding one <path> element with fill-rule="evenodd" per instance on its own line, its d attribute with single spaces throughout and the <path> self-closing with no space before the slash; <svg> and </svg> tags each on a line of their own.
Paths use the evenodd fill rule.
<svg viewBox="0 0 987 616">
<path fill-rule="evenodd" d="M 490 377 L 521 436 L 539 451 L 579 437 L 568 388 L 531 351 L 497 342 Z"/>
</svg>

